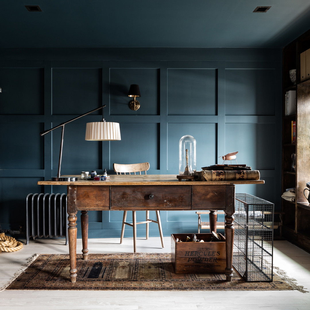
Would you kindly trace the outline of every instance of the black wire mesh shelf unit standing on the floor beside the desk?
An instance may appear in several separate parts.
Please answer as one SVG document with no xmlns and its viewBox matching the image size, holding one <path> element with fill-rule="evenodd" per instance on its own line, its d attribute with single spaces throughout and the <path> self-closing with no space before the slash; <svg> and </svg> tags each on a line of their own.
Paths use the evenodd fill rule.
<svg viewBox="0 0 310 310">
<path fill-rule="evenodd" d="M 272 282 L 274 204 L 236 193 L 233 266 L 247 282 Z"/>
</svg>

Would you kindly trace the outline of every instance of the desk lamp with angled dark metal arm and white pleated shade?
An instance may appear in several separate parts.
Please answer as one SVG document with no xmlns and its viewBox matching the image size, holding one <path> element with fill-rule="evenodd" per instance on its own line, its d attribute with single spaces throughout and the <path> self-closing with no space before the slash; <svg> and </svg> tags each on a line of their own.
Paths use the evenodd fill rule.
<svg viewBox="0 0 310 310">
<path fill-rule="evenodd" d="M 48 129 L 46 131 L 42 131 L 40 133 L 41 136 L 44 136 L 48 132 L 50 132 L 56 128 L 61 127 L 58 172 L 57 172 L 57 177 L 52 177 L 52 181 L 77 181 L 78 180 L 78 178 L 76 178 L 76 177 L 60 177 L 62 147 L 63 147 L 63 142 L 64 142 L 64 125 L 66 125 L 72 121 L 75 121 L 76 119 L 83 117 L 87 114 L 93 113 L 99 109 L 103 109 L 105 106 L 106 105 L 104 104 L 102 107 L 91 110 L 85 114 L 82 114 L 78 117 L 70 119 L 67 122 L 61 123 L 58 126 L 55 126 L 55 127 Z M 101 122 L 86 123 L 85 140 L 87 140 L 87 141 L 113 141 L 113 140 L 120 140 L 120 139 L 121 139 L 121 134 L 120 134 L 120 130 L 119 130 L 119 123 L 106 122 L 103 118 L 103 112 L 102 112 Z"/>
</svg>

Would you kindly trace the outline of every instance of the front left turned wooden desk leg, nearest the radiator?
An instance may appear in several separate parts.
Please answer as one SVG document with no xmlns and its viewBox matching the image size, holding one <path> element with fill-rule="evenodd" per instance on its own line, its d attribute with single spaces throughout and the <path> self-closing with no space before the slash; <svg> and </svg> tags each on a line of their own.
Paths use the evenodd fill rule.
<svg viewBox="0 0 310 310">
<path fill-rule="evenodd" d="M 75 213 L 68 213 L 68 237 L 69 237 L 69 256 L 70 256 L 70 277 L 74 283 L 77 277 L 76 260 L 77 260 L 77 216 Z"/>
</svg>

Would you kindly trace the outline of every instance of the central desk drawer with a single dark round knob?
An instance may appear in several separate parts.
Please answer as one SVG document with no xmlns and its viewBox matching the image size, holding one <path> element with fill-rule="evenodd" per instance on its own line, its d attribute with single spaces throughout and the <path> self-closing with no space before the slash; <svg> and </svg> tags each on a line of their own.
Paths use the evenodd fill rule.
<svg viewBox="0 0 310 310">
<path fill-rule="evenodd" d="M 191 186 L 111 186 L 112 210 L 190 210 Z"/>
</svg>

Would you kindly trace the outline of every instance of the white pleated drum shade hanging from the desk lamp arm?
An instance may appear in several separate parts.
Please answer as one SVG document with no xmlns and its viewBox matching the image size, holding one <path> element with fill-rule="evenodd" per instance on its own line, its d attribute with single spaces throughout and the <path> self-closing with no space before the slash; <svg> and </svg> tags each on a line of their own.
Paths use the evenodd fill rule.
<svg viewBox="0 0 310 310">
<path fill-rule="evenodd" d="M 92 122 L 86 123 L 85 140 L 87 141 L 111 141 L 120 140 L 121 132 L 119 123 Z"/>
</svg>

